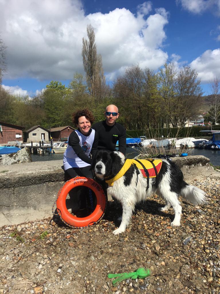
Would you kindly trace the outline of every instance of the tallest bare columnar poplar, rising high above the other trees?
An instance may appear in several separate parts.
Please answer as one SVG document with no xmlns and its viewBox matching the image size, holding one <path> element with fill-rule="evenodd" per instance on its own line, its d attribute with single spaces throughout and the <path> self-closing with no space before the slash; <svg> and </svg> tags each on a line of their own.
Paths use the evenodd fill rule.
<svg viewBox="0 0 220 294">
<path fill-rule="evenodd" d="M 87 25 L 87 36 L 88 40 L 82 38 L 82 59 L 88 88 L 90 93 L 93 95 L 97 50 L 95 44 L 95 32 L 91 24 Z"/>
</svg>

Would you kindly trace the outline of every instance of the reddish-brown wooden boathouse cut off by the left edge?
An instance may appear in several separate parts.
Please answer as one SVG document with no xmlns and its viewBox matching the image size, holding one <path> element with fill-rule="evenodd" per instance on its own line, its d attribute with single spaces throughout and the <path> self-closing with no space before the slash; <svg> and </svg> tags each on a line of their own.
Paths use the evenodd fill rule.
<svg viewBox="0 0 220 294">
<path fill-rule="evenodd" d="M 25 127 L 0 121 L 0 144 L 5 144 L 9 141 L 18 141 L 19 143 L 23 143 L 22 130 L 24 128 Z"/>
</svg>

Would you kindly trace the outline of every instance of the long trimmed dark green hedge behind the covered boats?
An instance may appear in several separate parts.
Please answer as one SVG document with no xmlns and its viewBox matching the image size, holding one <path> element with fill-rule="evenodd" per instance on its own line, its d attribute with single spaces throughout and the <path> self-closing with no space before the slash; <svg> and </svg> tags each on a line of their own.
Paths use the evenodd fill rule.
<svg viewBox="0 0 220 294">
<path fill-rule="evenodd" d="M 207 133 L 200 133 L 203 130 L 219 130 L 220 126 L 194 126 L 189 128 L 160 128 L 160 129 L 147 129 L 147 130 L 128 130 L 126 131 L 127 138 L 139 138 L 140 136 L 146 136 L 147 138 L 158 138 L 163 136 L 168 137 L 204 137 Z"/>
</svg>

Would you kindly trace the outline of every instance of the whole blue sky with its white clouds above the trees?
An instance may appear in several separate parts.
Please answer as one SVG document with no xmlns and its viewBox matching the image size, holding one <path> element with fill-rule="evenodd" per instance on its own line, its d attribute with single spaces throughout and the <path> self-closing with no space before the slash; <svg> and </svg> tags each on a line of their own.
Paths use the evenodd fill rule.
<svg viewBox="0 0 220 294">
<path fill-rule="evenodd" d="M 155 72 L 167 60 L 198 72 L 204 95 L 220 77 L 220 0 L 0 0 L 7 46 L 3 87 L 37 95 L 84 73 L 82 38 L 91 24 L 110 85 L 133 64 Z"/>
</svg>

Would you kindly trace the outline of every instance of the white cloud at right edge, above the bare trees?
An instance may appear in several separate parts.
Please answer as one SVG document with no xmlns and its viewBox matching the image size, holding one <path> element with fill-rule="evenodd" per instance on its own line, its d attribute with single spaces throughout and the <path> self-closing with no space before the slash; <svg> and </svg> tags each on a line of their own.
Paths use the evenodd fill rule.
<svg viewBox="0 0 220 294">
<path fill-rule="evenodd" d="M 190 64 L 199 72 L 198 78 L 203 83 L 209 83 L 216 76 L 220 76 L 220 49 L 207 50 Z"/>
</svg>

